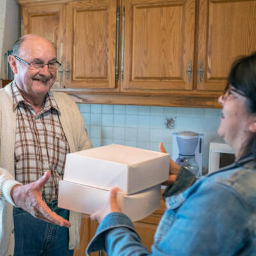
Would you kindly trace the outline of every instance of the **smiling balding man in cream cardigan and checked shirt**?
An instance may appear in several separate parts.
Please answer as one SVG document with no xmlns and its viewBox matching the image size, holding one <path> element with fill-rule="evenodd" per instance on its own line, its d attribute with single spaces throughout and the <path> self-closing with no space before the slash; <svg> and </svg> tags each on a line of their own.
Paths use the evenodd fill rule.
<svg viewBox="0 0 256 256">
<path fill-rule="evenodd" d="M 72 255 L 81 216 L 58 208 L 58 181 L 66 154 L 92 144 L 76 104 L 50 91 L 61 65 L 51 42 L 22 36 L 9 63 L 14 80 L 0 90 L 0 255 Z"/>
</svg>

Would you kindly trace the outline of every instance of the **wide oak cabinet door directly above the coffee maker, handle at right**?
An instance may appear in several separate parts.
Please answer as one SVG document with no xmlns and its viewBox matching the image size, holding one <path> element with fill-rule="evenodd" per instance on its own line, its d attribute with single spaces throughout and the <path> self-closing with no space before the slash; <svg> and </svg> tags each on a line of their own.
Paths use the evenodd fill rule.
<svg viewBox="0 0 256 256">
<path fill-rule="evenodd" d="M 125 0 L 122 10 L 121 91 L 192 90 L 195 0 Z"/>
</svg>

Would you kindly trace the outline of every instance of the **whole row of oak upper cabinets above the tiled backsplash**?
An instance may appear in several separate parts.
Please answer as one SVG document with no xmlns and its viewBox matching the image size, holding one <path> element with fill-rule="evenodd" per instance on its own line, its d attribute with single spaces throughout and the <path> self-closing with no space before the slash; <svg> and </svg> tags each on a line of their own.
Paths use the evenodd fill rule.
<svg viewBox="0 0 256 256">
<path fill-rule="evenodd" d="M 58 49 L 77 102 L 218 108 L 230 65 L 256 50 L 256 0 L 20 0 L 23 33 Z"/>
</svg>

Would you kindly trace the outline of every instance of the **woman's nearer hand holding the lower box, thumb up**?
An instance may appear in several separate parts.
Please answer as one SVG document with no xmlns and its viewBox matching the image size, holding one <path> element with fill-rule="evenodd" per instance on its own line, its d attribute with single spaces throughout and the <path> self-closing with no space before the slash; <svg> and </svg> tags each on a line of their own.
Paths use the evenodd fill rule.
<svg viewBox="0 0 256 256">
<path fill-rule="evenodd" d="M 109 202 L 108 204 L 100 209 L 99 211 L 93 213 L 90 218 L 91 220 L 97 220 L 99 223 L 111 212 L 121 212 L 117 202 L 116 202 L 116 196 L 118 192 L 118 188 L 113 188 L 109 191 Z"/>
</svg>

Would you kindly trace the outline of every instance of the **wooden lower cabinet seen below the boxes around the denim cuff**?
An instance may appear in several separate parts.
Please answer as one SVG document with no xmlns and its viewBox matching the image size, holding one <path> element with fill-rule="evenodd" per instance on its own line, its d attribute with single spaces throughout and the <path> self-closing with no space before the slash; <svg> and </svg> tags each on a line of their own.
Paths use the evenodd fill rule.
<svg viewBox="0 0 256 256">
<path fill-rule="evenodd" d="M 161 206 L 157 211 L 153 212 L 147 218 L 134 222 L 134 228 L 138 232 L 142 243 L 151 251 L 151 246 L 154 243 L 154 234 L 156 232 L 157 225 L 161 220 L 165 210 L 164 200 L 161 199 Z M 86 247 L 95 235 L 99 223 L 97 221 L 90 220 L 90 216 L 82 214 L 81 229 L 80 229 L 80 246 L 75 250 L 74 256 L 84 256 Z M 90 256 L 104 256 L 103 252 L 94 252 Z"/>
</svg>

